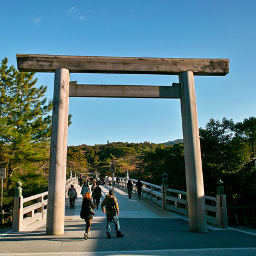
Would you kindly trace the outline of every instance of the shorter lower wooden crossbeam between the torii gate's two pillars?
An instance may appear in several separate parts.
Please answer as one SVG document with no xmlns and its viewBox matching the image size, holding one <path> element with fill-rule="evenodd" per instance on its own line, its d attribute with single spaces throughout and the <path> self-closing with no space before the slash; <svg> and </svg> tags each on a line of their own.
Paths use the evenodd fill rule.
<svg viewBox="0 0 256 256">
<path fill-rule="evenodd" d="M 180 86 L 77 85 L 69 83 L 69 97 L 181 98 Z"/>
</svg>

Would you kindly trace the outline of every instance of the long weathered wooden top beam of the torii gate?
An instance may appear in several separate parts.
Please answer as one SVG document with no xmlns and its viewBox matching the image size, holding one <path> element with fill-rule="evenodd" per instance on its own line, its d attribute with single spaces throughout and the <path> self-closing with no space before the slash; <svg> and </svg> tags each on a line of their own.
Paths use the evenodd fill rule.
<svg viewBox="0 0 256 256">
<path fill-rule="evenodd" d="M 19 71 L 55 72 L 66 68 L 71 73 L 226 75 L 229 59 L 166 59 L 142 57 L 62 56 L 17 54 Z"/>
</svg>

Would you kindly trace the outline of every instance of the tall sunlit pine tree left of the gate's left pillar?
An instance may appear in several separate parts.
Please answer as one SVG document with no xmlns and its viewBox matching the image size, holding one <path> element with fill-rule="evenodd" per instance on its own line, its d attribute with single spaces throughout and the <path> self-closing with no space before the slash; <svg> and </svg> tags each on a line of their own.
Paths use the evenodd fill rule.
<svg viewBox="0 0 256 256">
<path fill-rule="evenodd" d="M 36 87 L 34 73 L 0 67 L 0 165 L 7 167 L 7 189 L 11 176 L 25 163 L 48 158 L 53 104 L 43 98 L 46 86 Z"/>
</svg>

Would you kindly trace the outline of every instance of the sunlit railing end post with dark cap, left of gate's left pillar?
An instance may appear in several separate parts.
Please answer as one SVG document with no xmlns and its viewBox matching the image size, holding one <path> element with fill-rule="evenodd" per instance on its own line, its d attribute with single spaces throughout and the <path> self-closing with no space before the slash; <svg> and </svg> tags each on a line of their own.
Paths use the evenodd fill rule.
<svg viewBox="0 0 256 256">
<path fill-rule="evenodd" d="M 13 231 L 21 231 L 23 220 L 23 196 L 22 196 L 22 183 L 16 182 L 16 188 L 13 199 Z"/>
</svg>

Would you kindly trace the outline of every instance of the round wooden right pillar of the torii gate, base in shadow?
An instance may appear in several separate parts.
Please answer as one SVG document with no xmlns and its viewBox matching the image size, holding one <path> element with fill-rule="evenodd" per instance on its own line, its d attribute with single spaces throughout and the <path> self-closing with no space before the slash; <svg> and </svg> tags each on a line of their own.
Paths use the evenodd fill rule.
<svg viewBox="0 0 256 256">
<path fill-rule="evenodd" d="M 179 74 L 181 84 L 181 115 L 184 139 L 185 172 L 187 183 L 188 220 L 191 232 L 207 232 L 205 192 L 197 123 L 194 74 Z"/>
</svg>

